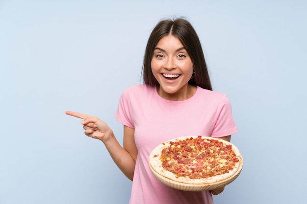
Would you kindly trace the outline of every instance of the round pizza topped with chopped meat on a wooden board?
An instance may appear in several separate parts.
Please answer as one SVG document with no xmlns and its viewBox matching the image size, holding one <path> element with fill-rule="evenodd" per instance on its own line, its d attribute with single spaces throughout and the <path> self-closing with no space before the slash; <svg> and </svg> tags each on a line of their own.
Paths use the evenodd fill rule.
<svg viewBox="0 0 307 204">
<path fill-rule="evenodd" d="M 162 180 L 210 185 L 238 176 L 243 159 L 239 150 L 223 139 L 185 136 L 158 145 L 149 163 L 153 174 Z"/>
</svg>

